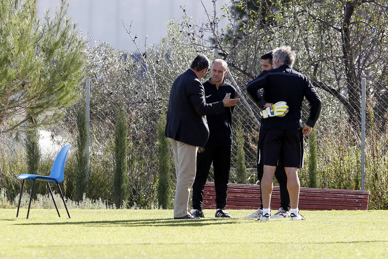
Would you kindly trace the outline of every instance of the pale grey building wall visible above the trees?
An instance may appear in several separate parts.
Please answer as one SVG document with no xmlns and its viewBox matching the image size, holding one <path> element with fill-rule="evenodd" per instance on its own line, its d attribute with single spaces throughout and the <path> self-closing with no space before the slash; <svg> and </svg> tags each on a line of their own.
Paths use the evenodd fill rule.
<svg viewBox="0 0 388 259">
<path fill-rule="evenodd" d="M 206 18 L 204 8 L 197 0 L 68 0 L 69 16 L 73 22 L 78 23 L 82 31 L 88 31 L 92 36 L 92 42 L 101 40 L 111 43 L 117 49 L 134 51 L 134 45 L 126 33 L 123 23 L 129 28 L 132 22 L 132 33 L 137 35 L 140 42 L 144 43 L 146 35 L 147 42 L 158 43 L 160 38 L 166 35 L 165 22 L 173 18 L 182 17 L 184 6 L 189 16 L 197 21 Z M 227 0 L 218 0 L 219 10 Z M 38 13 L 43 17 L 45 8 L 53 12 L 58 5 L 55 0 L 39 0 Z M 203 0 L 208 10 L 213 10 L 211 0 Z M 221 16 L 219 12 L 218 17 Z M 226 21 L 222 26 L 226 26 Z"/>
</svg>

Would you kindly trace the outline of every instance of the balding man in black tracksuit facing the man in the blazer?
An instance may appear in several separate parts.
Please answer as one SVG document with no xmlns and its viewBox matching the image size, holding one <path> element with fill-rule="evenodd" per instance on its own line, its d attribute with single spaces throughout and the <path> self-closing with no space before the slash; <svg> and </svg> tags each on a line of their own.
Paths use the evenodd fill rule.
<svg viewBox="0 0 388 259">
<path fill-rule="evenodd" d="M 229 93 L 230 98 L 235 98 L 236 89 L 223 80 L 226 73 L 227 63 L 222 59 L 216 59 L 211 67 L 211 78 L 203 83 L 206 103 L 218 102 Z M 197 171 L 192 195 L 194 216 L 204 217 L 203 192 L 213 162 L 217 205 L 215 217 L 230 217 L 224 208 L 230 172 L 233 110 L 234 106 L 225 107 L 224 113 L 206 116 L 210 133 L 208 141 L 203 147 L 198 148 L 197 153 Z"/>
</svg>

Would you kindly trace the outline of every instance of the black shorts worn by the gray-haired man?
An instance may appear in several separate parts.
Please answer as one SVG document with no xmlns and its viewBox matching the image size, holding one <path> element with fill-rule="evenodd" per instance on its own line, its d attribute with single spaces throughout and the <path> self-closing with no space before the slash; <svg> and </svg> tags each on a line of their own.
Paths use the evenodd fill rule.
<svg viewBox="0 0 388 259">
<path fill-rule="evenodd" d="M 302 130 L 263 129 L 258 163 L 278 166 L 279 158 L 284 167 L 303 167 Z"/>
</svg>

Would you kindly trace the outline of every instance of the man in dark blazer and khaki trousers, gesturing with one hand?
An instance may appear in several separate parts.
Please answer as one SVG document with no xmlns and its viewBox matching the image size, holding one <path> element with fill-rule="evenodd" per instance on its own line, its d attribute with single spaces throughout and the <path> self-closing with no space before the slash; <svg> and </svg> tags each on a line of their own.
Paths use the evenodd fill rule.
<svg viewBox="0 0 388 259">
<path fill-rule="evenodd" d="M 240 100 L 230 99 L 229 94 L 217 103 L 206 103 L 199 80 L 210 69 L 209 66 L 208 57 L 198 55 L 171 87 L 165 136 L 174 152 L 177 175 L 174 219 L 198 218 L 191 215 L 189 198 L 196 174 L 197 148 L 204 146 L 209 137 L 206 115 L 223 113 L 224 107 L 234 106 Z"/>
</svg>

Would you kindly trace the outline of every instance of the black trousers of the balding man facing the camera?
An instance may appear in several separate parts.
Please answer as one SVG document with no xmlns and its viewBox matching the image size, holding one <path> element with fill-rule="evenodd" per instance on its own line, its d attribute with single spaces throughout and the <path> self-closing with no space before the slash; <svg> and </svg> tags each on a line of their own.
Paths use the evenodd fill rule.
<svg viewBox="0 0 388 259">
<path fill-rule="evenodd" d="M 232 148 L 231 146 L 208 145 L 205 145 L 203 148 L 203 152 L 197 153 L 197 170 L 193 184 L 192 208 L 195 210 L 203 209 L 203 191 L 209 176 L 211 163 L 213 162 L 216 205 L 217 209 L 223 209 L 226 206 Z M 199 148 L 199 151 L 201 151 L 201 148 Z"/>
</svg>

